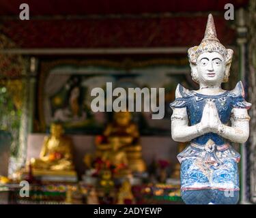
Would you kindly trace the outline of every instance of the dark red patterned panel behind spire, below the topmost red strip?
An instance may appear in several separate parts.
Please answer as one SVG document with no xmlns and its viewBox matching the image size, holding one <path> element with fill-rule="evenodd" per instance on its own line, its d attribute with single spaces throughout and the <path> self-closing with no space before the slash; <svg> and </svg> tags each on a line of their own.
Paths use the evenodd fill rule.
<svg viewBox="0 0 256 218">
<path fill-rule="evenodd" d="M 223 44 L 236 32 L 223 16 L 214 17 Z M 7 20 L 2 31 L 22 48 L 119 48 L 194 46 L 201 42 L 207 16 L 175 18 Z"/>
</svg>

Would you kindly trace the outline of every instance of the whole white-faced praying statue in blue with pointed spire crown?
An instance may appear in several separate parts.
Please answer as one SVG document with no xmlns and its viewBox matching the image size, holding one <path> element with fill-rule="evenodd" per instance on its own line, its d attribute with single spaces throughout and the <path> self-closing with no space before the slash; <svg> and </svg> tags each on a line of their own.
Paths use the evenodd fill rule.
<svg viewBox="0 0 256 218">
<path fill-rule="evenodd" d="M 239 200 L 240 155 L 231 142 L 248 139 L 247 110 L 242 82 L 232 91 L 221 89 L 227 82 L 233 50 L 218 40 L 212 14 L 199 46 L 188 49 L 191 75 L 199 90 L 177 85 L 170 104 L 171 135 L 189 142 L 177 155 L 181 163 L 181 193 L 186 204 L 236 204 Z"/>
</svg>

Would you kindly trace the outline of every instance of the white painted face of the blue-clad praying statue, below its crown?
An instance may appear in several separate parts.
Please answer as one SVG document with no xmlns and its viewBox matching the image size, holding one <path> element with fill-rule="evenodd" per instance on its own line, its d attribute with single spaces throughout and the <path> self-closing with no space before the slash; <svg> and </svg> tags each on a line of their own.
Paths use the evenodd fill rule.
<svg viewBox="0 0 256 218">
<path fill-rule="evenodd" d="M 225 60 L 218 52 L 203 52 L 197 58 L 197 75 L 199 83 L 217 85 L 223 82 Z"/>
</svg>

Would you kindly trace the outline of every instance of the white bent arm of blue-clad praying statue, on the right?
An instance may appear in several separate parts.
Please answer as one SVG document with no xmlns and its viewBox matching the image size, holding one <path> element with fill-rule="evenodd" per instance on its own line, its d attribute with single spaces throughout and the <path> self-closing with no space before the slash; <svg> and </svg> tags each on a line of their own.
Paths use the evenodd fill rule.
<svg viewBox="0 0 256 218">
<path fill-rule="evenodd" d="M 220 125 L 218 134 L 231 142 L 244 143 L 249 136 L 249 121 L 250 116 L 246 108 L 233 108 L 231 126 Z"/>
</svg>

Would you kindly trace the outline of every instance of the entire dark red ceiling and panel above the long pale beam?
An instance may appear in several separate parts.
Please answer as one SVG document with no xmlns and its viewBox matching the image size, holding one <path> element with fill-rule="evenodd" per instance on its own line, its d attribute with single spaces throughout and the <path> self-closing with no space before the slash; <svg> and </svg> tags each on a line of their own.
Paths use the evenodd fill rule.
<svg viewBox="0 0 256 218">
<path fill-rule="evenodd" d="M 20 3 L 28 3 L 31 20 L 19 20 Z M 119 48 L 193 46 L 201 42 L 207 12 L 238 8 L 247 0 L 0 0 L 1 31 L 19 48 Z M 65 15 L 206 12 L 202 16 L 165 18 L 67 18 Z M 234 44 L 232 21 L 214 16 L 223 44 Z M 53 18 L 51 15 L 55 15 Z M 62 15 L 58 17 L 57 15 Z M 192 14 L 191 14 L 192 15 Z M 2 17 L 1 17 L 2 16 Z M 3 18 L 14 16 L 14 19 Z M 33 16 L 37 16 L 33 19 Z M 57 17 L 56 17 L 57 16 Z M 2 19 L 1 19 L 2 18 Z"/>
</svg>

